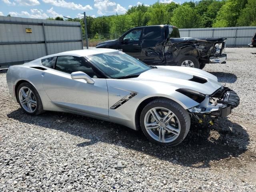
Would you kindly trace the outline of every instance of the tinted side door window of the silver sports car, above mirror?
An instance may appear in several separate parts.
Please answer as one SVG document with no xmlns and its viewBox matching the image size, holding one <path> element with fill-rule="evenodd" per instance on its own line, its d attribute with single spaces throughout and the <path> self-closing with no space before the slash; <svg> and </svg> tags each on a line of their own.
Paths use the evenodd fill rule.
<svg viewBox="0 0 256 192">
<path fill-rule="evenodd" d="M 97 78 L 91 66 L 80 57 L 59 56 L 56 62 L 56 70 L 66 73 L 82 71 L 90 77 Z"/>
</svg>

